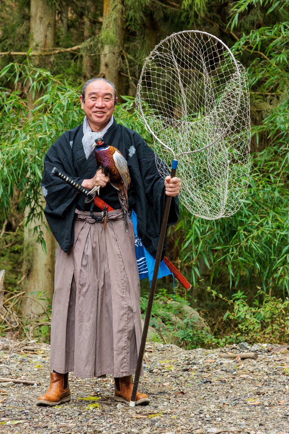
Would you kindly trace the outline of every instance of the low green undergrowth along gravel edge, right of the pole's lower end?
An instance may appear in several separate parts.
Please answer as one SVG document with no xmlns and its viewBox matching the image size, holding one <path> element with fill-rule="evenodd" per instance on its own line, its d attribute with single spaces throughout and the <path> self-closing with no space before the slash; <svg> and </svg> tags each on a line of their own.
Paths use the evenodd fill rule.
<svg viewBox="0 0 289 434">
<path fill-rule="evenodd" d="M 165 289 L 156 294 L 150 325 L 156 329 L 155 340 L 172 342 L 185 349 L 198 347 L 223 346 L 244 342 L 284 343 L 289 339 L 289 298 L 285 300 L 270 296 L 260 289 L 253 304 L 249 304 L 243 291 L 238 291 L 231 299 L 207 287 L 214 299 L 220 299 L 228 305 L 224 316 L 224 328 L 214 327 L 213 332 L 207 327 L 200 327 L 196 319 L 186 309 L 188 305 L 181 297 L 176 303 Z M 260 299 L 260 301 L 258 300 Z M 147 297 L 141 297 L 142 312 L 146 311 Z M 144 316 L 144 314 L 143 314 Z"/>
</svg>

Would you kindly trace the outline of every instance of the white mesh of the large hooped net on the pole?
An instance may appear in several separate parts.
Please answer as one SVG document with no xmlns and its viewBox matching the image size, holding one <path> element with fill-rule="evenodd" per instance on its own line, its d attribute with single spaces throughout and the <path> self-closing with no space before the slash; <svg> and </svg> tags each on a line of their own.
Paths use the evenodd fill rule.
<svg viewBox="0 0 289 434">
<path fill-rule="evenodd" d="M 192 214 L 216 219 L 240 208 L 250 171 L 249 90 L 244 67 L 219 39 L 188 31 L 156 46 L 137 112 L 155 139 L 159 173 L 179 160 L 179 199 Z"/>
</svg>

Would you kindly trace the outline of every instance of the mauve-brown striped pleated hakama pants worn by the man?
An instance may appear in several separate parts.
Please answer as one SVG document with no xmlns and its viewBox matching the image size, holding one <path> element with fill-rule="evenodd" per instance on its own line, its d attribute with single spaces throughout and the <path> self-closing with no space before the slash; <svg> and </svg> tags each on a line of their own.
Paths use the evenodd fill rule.
<svg viewBox="0 0 289 434">
<path fill-rule="evenodd" d="M 50 366 L 81 378 L 124 377 L 136 370 L 142 334 L 133 224 L 125 234 L 123 211 L 114 210 L 104 230 L 75 212 L 73 247 L 57 251 Z"/>
</svg>

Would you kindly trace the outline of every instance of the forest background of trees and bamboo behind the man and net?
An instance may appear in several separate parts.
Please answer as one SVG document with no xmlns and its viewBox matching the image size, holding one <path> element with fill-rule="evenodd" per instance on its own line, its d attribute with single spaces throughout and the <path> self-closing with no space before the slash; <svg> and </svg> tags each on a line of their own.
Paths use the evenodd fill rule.
<svg viewBox="0 0 289 434">
<path fill-rule="evenodd" d="M 252 169 L 234 216 L 209 221 L 181 206 L 166 255 L 192 289 L 159 280 L 153 339 L 185 348 L 288 342 L 289 0 L 1 0 L 2 335 L 49 341 L 56 242 L 42 213 L 42 162 L 82 122 L 81 84 L 113 81 L 117 122 L 151 143 L 134 110 L 144 59 L 191 29 L 221 38 L 247 69 Z M 143 312 L 148 289 L 141 281 Z"/>
</svg>

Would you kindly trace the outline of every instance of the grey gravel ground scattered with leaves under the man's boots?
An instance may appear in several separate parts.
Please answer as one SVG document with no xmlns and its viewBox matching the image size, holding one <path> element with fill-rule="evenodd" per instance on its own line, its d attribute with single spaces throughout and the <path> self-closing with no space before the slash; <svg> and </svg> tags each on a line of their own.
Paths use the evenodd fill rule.
<svg viewBox="0 0 289 434">
<path fill-rule="evenodd" d="M 135 408 L 114 401 L 111 376 L 78 379 L 72 374 L 69 403 L 37 407 L 37 397 L 49 386 L 49 346 L 42 345 L 34 354 L 2 351 L 1 377 L 41 385 L 1 383 L 0 432 L 289 433 L 289 354 L 258 345 L 253 349 L 256 360 L 235 361 L 220 354 L 244 352 L 237 345 L 185 351 L 147 342 L 139 389 L 149 395 L 150 404 Z"/>
</svg>

